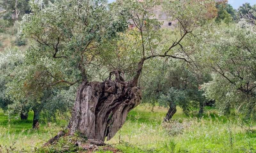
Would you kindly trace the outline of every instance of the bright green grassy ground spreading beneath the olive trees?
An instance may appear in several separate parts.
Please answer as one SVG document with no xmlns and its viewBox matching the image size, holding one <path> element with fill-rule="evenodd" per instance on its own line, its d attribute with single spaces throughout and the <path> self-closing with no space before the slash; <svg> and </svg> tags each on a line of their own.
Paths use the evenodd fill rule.
<svg viewBox="0 0 256 153">
<path fill-rule="evenodd" d="M 149 106 L 138 106 L 129 113 L 125 125 L 107 143 L 124 153 L 256 152 L 254 127 L 249 129 L 239 119 L 217 117 L 214 110 L 206 111 L 203 119 L 192 118 L 185 116 L 178 108 L 174 120 L 162 124 L 166 112 L 165 108 L 155 107 L 152 112 Z M 8 116 L 0 111 L 0 144 L 3 152 L 22 148 L 32 152 L 67 123 L 41 124 L 39 130 L 32 130 L 32 117 L 30 113 L 28 121 L 8 121 Z"/>
</svg>

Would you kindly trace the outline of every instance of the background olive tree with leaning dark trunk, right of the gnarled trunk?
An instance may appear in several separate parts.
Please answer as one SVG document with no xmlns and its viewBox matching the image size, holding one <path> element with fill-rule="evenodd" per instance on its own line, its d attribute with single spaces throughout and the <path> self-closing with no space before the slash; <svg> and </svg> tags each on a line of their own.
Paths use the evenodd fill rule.
<svg viewBox="0 0 256 153">
<path fill-rule="evenodd" d="M 210 77 L 195 74 L 179 61 L 170 62 L 172 64 L 160 65 L 160 69 L 152 67 L 155 72 L 143 77 L 144 101 L 153 102 L 153 105 L 159 102 L 160 106 L 169 107 L 165 121 L 173 117 L 177 106 L 180 106 L 187 115 L 199 109 L 199 116 L 202 116 L 206 99 L 202 96 L 203 93 L 198 91 L 198 87 Z M 144 85 L 144 80 L 150 83 Z"/>
</svg>

